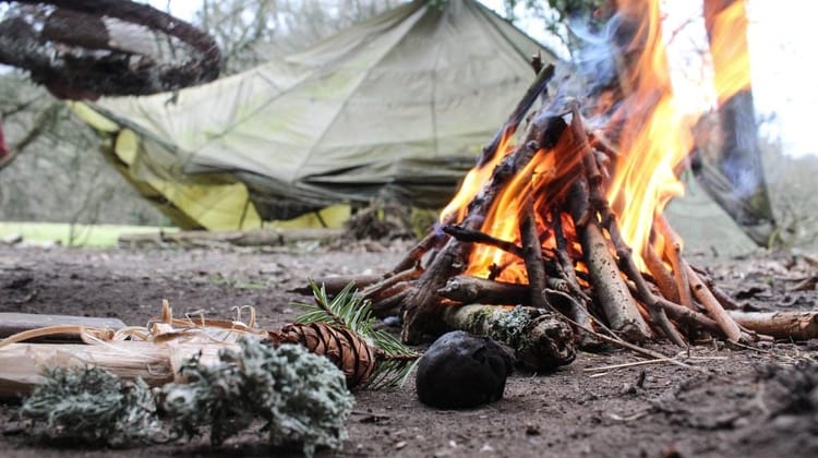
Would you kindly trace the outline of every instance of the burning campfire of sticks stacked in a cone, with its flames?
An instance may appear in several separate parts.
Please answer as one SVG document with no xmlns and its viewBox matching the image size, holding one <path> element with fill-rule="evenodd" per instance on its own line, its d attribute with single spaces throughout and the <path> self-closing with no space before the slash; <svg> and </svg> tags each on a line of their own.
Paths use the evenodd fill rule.
<svg viewBox="0 0 818 458">
<path fill-rule="evenodd" d="M 804 327 L 795 317 L 750 318 L 685 258 L 663 209 L 684 191 L 678 174 L 702 113 L 679 109 L 658 2 L 618 3 L 622 28 L 633 32 L 617 61 L 618 85 L 598 92 L 594 104 L 550 96 L 554 69 L 534 59 L 534 83 L 440 224 L 380 281 L 358 278 L 375 311 L 401 313 L 404 340 L 420 342 L 446 327 L 473 330 L 473 317 L 457 315 L 468 304 L 555 313 L 562 320 L 541 332 L 553 341 L 569 324 L 580 346 L 600 339 L 686 346 L 706 336 L 754 341 Z M 743 9 L 736 1 L 708 13 L 720 101 L 749 87 L 746 46 L 739 56 L 735 46 L 722 46 L 734 38 L 731 19 L 745 20 Z M 727 61 L 733 67 L 725 70 Z M 526 116 L 538 100 L 542 107 Z M 573 359 L 565 350 L 572 342 L 552 345 L 564 361 Z"/>
</svg>

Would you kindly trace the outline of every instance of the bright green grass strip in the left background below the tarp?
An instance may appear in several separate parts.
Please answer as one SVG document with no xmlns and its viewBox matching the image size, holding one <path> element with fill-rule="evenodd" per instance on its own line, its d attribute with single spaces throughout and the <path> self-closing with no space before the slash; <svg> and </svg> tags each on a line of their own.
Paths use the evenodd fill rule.
<svg viewBox="0 0 818 458">
<path fill-rule="evenodd" d="M 71 225 L 64 222 L 0 222 L 0 238 L 19 233 L 29 242 L 59 241 L 63 246 L 116 246 L 122 233 L 151 233 L 163 230 L 175 232 L 177 228 L 152 226 L 116 226 L 116 225 L 74 225 L 73 242 Z"/>
</svg>

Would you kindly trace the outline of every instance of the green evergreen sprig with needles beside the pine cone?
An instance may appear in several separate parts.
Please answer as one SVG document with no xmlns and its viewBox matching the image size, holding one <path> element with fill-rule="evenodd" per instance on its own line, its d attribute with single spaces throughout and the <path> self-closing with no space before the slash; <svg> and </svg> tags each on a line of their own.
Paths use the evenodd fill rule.
<svg viewBox="0 0 818 458">
<path fill-rule="evenodd" d="M 374 329 L 376 318 L 371 302 L 364 300 L 350 282 L 330 300 L 324 285 L 310 280 L 315 303 L 294 302 L 305 312 L 300 324 L 324 323 L 349 329 L 377 349 L 378 363 L 365 384 L 366 388 L 381 389 L 402 385 L 414 370 L 420 354 L 400 342 L 389 333 Z"/>
</svg>

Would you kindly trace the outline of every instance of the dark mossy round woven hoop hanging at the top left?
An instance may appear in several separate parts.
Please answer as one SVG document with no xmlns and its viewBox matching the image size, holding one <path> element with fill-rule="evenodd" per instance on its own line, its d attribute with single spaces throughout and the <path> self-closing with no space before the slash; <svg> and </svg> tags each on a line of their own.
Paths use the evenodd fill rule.
<svg viewBox="0 0 818 458">
<path fill-rule="evenodd" d="M 0 0 L 0 63 L 58 97 L 147 95 L 218 76 L 208 34 L 128 0 Z"/>
</svg>

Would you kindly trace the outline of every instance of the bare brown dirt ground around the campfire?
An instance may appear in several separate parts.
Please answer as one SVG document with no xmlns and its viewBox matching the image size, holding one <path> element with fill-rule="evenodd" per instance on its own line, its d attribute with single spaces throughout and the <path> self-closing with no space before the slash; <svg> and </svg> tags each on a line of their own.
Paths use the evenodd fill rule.
<svg viewBox="0 0 818 458">
<path fill-rule="evenodd" d="M 0 248 L 0 311 L 116 316 L 144 324 L 168 299 L 177 313 L 229 316 L 253 305 L 261 325 L 278 327 L 298 314 L 288 292 L 309 277 L 382 273 L 406 242 L 303 243 L 251 249 Z M 816 275 L 808 255 L 759 254 L 705 258 L 725 290 L 747 305 L 782 310 L 818 306 L 815 290 L 791 291 Z M 349 441 L 338 456 L 502 457 L 808 457 L 818 456 L 818 341 L 746 349 L 710 342 L 654 350 L 695 369 L 646 364 L 629 352 L 580 353 L 555 374 L 515 373 L 505 398 L 465 411 L 421 405 L 413 381 L 388 391 L 357 393 Z M 602 370 L 599 370 L 603 367 Z M 0 371 L 2 369 L 0 367 Z M 0 455 L 269 456 L 263 438 L 244 434 L 210 448 L 202 438 L 131 449 L 94 449 L 32 441 L 17 405 L 0 403 Z M 329 455 L 324 451 L 321 455 Z"/>
</svg>

